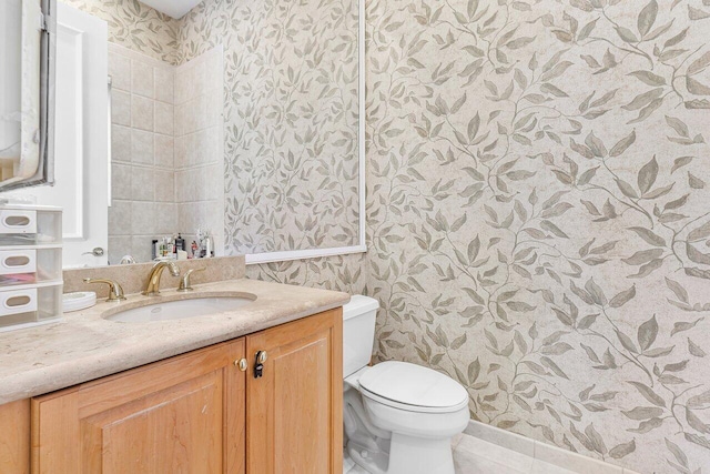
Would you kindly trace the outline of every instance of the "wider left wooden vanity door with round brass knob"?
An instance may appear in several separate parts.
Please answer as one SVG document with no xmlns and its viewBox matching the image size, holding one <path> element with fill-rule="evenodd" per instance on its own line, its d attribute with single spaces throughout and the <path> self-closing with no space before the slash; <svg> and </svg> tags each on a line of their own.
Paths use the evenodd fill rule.
<svg viewBox="0 0 710 474">
<path fill-rule="evenodd" d="M 245 470 L 244 340 L 32 400 L 32 472 Z"/>
</svg>

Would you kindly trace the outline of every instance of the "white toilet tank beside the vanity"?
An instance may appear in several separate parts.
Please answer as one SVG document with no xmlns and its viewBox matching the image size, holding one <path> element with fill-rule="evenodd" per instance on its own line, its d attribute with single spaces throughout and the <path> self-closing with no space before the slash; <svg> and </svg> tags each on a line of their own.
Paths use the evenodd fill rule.
<svg viewBox="0 0 710 474">
<path fill-rule="evenodd" d="M 379 303 L 361 294 L 343 306 L 343 377 L 369 364 Z"/>
</svg>

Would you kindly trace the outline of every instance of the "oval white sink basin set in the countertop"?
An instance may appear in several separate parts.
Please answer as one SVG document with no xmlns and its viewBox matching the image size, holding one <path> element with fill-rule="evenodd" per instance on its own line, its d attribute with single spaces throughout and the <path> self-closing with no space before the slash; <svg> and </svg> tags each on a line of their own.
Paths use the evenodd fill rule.
<svg viewBox="0 0 710 474">
<path fill-rule="evenodd" d="M 165 301 L 132 310 L 120 311 L 105 316 L 109 321 L 122 323 L 145 323 L 150 321 L 183 320 L 185 317 L 206 316 L 236 310 L 252 303 L 253 297 L 209 296 L 190 300 Z"/>
</svg>

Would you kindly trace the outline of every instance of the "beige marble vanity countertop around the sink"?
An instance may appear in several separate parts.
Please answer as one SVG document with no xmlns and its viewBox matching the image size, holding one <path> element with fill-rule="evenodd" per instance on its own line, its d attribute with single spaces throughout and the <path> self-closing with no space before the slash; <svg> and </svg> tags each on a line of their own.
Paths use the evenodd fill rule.
<svg viewBox="0 0 710 474">
<path fill-rule="evenodd" d="M 90 380 L 229 341 L 342 306 L 349 295 L 305 286 L 232 280 L 194 285 L 195 291 L 163 290 L 161 296 L 128 295 L 64 314 L 61 322 L 0 333 L 0 404 L 28 399 Z M 102 316 L 161 300 L 251 293 L 256 301 L 214 315 L 146 323 Z"/>
</svg>

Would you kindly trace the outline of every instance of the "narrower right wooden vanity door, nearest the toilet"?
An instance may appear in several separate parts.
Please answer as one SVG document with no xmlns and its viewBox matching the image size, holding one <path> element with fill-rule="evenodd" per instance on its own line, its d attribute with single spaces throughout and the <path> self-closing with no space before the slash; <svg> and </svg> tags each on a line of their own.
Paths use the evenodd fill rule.
<svg viewBox="0 0 710 474">
<path fill-rule="evenodd" d="M 246 337 L 246 452 L 251 474 L 343 471 L 343 311 Z M 266 351 L 263 375 L 254 375 Z"/>
</svg>

